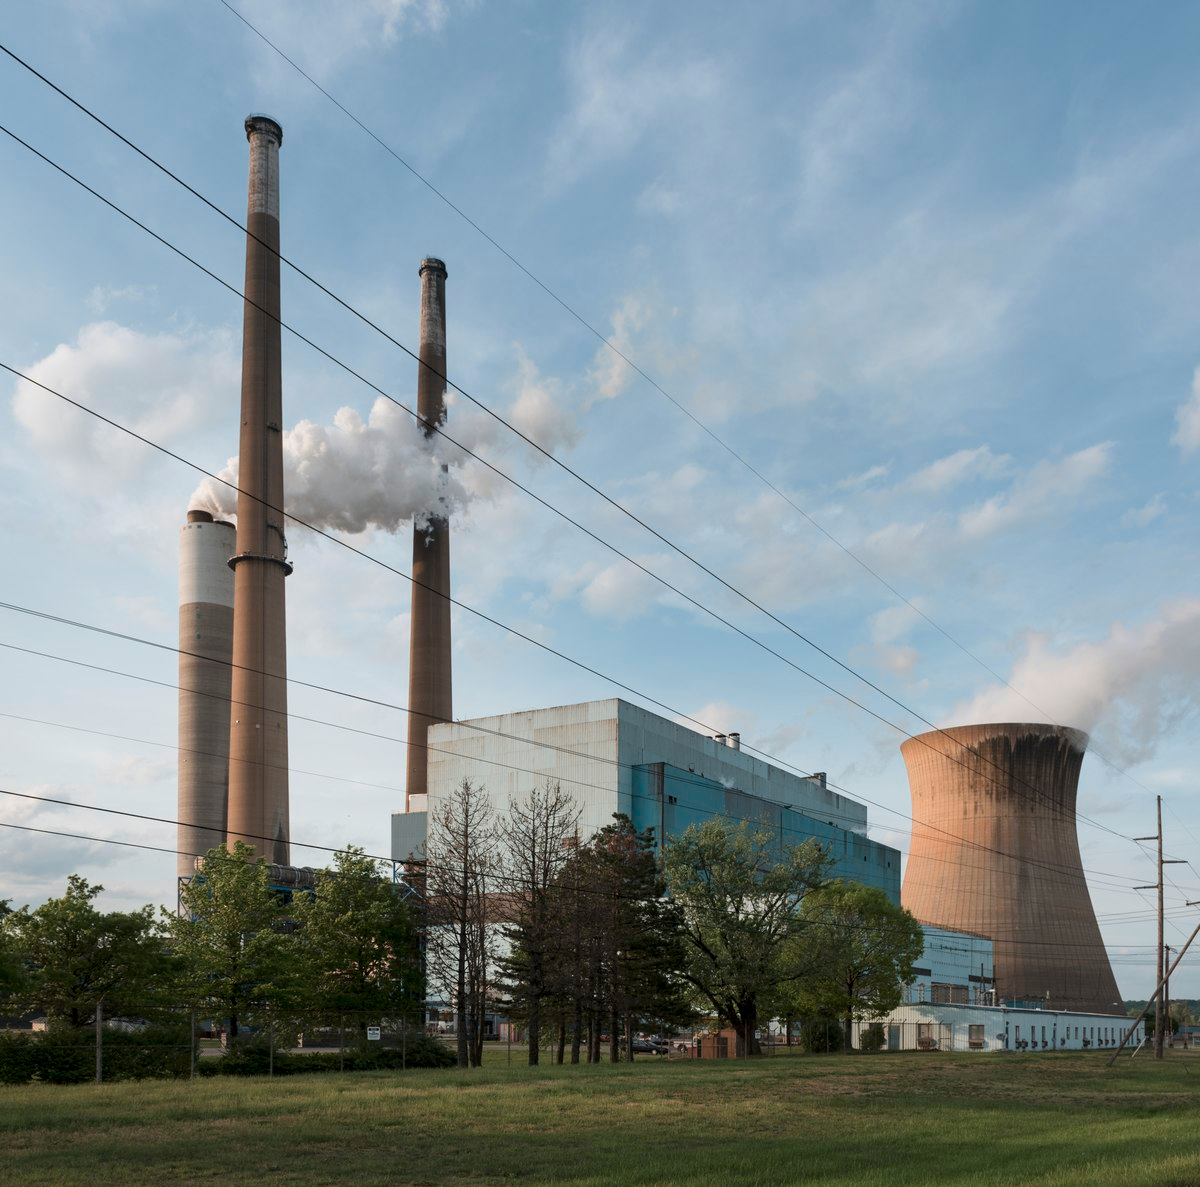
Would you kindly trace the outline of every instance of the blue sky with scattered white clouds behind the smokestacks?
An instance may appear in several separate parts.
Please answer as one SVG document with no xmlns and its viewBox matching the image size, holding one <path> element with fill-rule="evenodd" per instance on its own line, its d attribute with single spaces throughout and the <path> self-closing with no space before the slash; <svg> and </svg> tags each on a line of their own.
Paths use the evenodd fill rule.
<svg viewBox="0 0 1200 1187">
<path fill-rule="evenodd" d="M 436 458 L 456 598 L 545 645 L 456 611 L 457 717 L 623 695 L 739 730 L 904 852 L 907 735 L 1087 730 L 1084 867 L 1145 997 L 1157 795 L 1169 943 L 1200 899 L 1198 34 L 1182 4 L 46 0 L 0 42 L 238 220 L 242 120 L 278 120 L 284 256 L 410 349 L 446 262 L 479 402 L 448 427 L 552 508 Z M 228 473 L 236 293 L 11 137 L 235 290 L 244 235 L 2 54 L 0 110 L 0 362 Z M 289 536 L 289 673 L 335 690 L 290 694 L 319 864 L 386 855 L 403 805 L 409 588 L 372 559 L 408 571 L 430 457 L 379 395 L 412 403 L 413 359 L 287 270 L 282 308 L 328 352 L 284 334 L 289 508 L 366 553 Z M 0 789 L 67 802 L 0 796 L 0 898 L 169 904 L 170 852 L 88 838 L 174 845 L 94 809 L 174 819 L 211 491 L 7 373 L 0 409 Z"/>
</svg>

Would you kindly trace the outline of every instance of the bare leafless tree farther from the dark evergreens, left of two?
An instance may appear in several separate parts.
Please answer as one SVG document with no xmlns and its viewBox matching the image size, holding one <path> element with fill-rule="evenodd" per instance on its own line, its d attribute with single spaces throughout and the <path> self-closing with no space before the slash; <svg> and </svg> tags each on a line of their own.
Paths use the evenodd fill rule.
<svg viewBox="0 0 1200 1187">
<path fill-rule="evenodd" d="M 425 849 L 427 978 L 454 999 L 458 1066 L 479 1067 L 498 941 L 497 820 L 481 784 L 463 779 L 434 809 Z"/>
</svg>

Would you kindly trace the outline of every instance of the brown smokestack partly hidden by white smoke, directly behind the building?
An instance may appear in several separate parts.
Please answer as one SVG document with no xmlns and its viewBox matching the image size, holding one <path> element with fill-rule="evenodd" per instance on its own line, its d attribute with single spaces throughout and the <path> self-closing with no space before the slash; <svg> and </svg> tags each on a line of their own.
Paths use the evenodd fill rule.
<svg viewBox="0 0 1200 1187">
<path fill-rule="evenodd" d="M 421 359 L 416 410 L 425 434 L 446 419 L 446 265 L 422 259 Z M 450 522 L 413 523 L 413 613 L 408 661 L 408 763 L 404 809 L 421 811 L 428 792 L 430 726 L 452 720 L 450 679 Z M 420 797 L 418 799 L 416 797 Z"/>
</svg>

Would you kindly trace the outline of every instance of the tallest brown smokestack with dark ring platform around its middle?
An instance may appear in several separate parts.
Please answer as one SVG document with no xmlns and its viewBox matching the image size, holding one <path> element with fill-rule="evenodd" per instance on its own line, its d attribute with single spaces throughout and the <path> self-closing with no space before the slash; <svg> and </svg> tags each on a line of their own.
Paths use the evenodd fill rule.
<svg viewBox="0 0 1200 1187">
<path fill-rule="evenodd" d="M 265 115 L 246 120 L 246 307 L 229 706 L 228 844 L 288 855 L 288 691 L 283 578 L 283 390 L 280 366 L 280 145 Z"/>
</svg>

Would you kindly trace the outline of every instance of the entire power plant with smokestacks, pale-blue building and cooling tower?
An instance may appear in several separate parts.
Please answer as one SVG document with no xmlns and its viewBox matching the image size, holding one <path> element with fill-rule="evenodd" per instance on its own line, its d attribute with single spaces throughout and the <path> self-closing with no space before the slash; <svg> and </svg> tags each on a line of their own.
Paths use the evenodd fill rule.
<svg viewBox="0 0 1200 1187">
<path fill-rule="evenodd" d="M 281 886 L 290 867 L 280 350 L 280 163 L 274 120 L 246 120 L 250 185 L 236 527 L 200 509 L 180 530 L 179 877 L 196 855 L 242 841 Z M 446 416 L 446 266 L 420 263 L 418 413 Z M 872 840 L 866 808 L 823 774 L 784 769 L 619 699 L 455 721 L 450 522 L 413 524 L 404 810 L 391 856 L 420 863 L 427 822 L 463 780 L 497 811 L 532 785 L 558 784 L 590 835 L 624 814 L 658 844 L 720 817 L 770 844 L 816 839 L 830 874 L 877 887 L 925 929 L 906 1001 L 882 1026 L 887 1048 L 965 1050 L 1116 1045 L 1128 1031 L 1092 910 L 1075 835 L 1086 736 L 1043 725 L 935 730 L 901 747 L 912 849 Z M 382 825 L 383 822 L 380 822 Z"/>
</svg>

